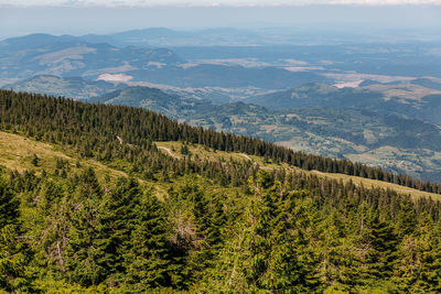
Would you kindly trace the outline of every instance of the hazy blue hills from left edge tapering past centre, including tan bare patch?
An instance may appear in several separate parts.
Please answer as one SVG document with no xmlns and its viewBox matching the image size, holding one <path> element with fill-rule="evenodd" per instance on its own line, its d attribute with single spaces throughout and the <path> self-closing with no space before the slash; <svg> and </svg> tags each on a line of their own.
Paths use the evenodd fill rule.
<svg viewBox="0 0 441 294">
<path fill-rule="evenodd" d="M 150 81 L 178 87 L 287 88 L 332 79 L 276 67 L 194 64 L 168 48 L 117 47 L 87 36 L 35 34 L 0 42 L 0 79 L 35 75 Z M 96 41 L 108 41 L 97 37 Z"/>
</svg>

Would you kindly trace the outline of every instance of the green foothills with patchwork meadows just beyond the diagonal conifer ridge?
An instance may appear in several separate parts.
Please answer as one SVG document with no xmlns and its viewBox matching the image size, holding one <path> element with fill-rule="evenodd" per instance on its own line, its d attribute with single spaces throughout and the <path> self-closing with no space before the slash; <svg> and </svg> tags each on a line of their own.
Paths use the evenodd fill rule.
<svg viewBox="0 0 441 294">
<path fill-rule="evenodd" d="M 258 137 L 294 150 L 346 157 L 422 178 L 441 178 L 441 128 L 418 119 L 356 108 L 214 105 L 147 87 L 128 87 L 92 101 L 143 107 L 194 126 Z"/>
</svg>

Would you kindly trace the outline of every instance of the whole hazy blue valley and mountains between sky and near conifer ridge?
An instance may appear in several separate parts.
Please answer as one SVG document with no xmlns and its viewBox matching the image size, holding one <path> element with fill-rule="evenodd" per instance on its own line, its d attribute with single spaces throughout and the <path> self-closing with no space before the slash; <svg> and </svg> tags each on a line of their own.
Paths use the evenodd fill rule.
<svg viewBox="0 0 441 294">
<path fill-rule="evenodd" d="M 439 42 L 270 29 L 32 34 L 0 41 L 0 86 L 441 182 Z"/>
</svg>

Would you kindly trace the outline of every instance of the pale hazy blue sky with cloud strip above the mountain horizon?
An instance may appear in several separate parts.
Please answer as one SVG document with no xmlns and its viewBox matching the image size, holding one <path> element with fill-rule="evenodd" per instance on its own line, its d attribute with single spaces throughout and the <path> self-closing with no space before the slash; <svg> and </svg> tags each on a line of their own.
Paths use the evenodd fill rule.
<svg viewBox="0 0 441 294">
<path fill-rule="evenodd" d="M 441 32 L 441 0 L 0 0 L 0 39 L 152 26 Z"/>
</svg>

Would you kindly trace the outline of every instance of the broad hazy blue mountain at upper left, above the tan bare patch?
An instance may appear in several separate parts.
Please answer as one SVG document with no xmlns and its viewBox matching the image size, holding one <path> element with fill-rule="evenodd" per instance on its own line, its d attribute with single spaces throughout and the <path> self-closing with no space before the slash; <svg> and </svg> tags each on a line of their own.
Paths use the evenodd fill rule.
<svg viewBox="0 0 441 294">
<path fill-rule="evenodd" d="M 33 42 L 34 39 L 42 40 Z M 165 48 L 122 48 L 88 43 L 72 36 L 30 35 L 6 40 L 0 46 L 0 77 L 28 78 L 39 74 L 97 78 L 123 74 L 153 63 L 174 65 L 183 59 Z"/>
</svg>

